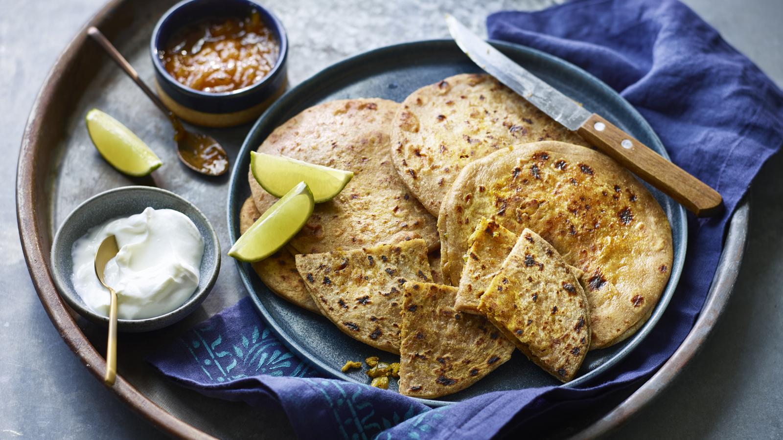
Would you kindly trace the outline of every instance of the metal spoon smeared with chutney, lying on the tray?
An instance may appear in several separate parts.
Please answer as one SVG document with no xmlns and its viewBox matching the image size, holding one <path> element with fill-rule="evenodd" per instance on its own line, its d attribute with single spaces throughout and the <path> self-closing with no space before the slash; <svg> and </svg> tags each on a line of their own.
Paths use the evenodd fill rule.
<svg viewBox="0 0 783 440">
<path fill-rule="evenodd" d="M 117 66 L 124 70 L 125 74 L 142 89 L 144 94 L 152 99 L 152 102 L 166 114 L 168 120 L 171 122 L 171 126 L 174 127 L 174 140 L 177 142 L 177 155 L 179 160 L 182 160 L 183 164 L 186 164 L 188 168 L 193 171 L 200 172 L 204 175 L 222 175 L 229 169 L 229 155 L 226 154 L 226 150 L 211 136 L 203 135 L 200 133 L 188 132 L 182 127 L 182 122 L 179 118 L 169 110 L 166 104 L 161 101 L 155 93 L 147 87 L 146 84 L 139 78 L 139 74 L 125 60 L 120 51 L 110 43 L 106 37 L 103 36 L 101 31 L 97 27 L 91 26 L 87 30 L 87 34 L 95 40 L 106 54 L 108 54 Z"/>
</svg>

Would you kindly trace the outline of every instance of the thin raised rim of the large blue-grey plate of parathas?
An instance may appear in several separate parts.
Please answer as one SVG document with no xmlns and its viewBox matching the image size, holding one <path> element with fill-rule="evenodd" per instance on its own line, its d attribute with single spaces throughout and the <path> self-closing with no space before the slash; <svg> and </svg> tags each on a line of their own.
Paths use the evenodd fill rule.
<svg viewBox="0 0 783 440">
<path fill-rule="evenodd" d="M 597 85 L 598 88 L 601 88 L 604 93 L 613 96 L 615 99 L 619 99 L 619 102 L 622 103 L 623 106 L 626 106 L 626 110 L 628 110 L 630 116 L 633 117 L 633 119 L 636 119 L 642 125 L 645 131 L 648 131 L 651 134 L 652 141 L 653 141 L 652 143 L 654 144 L 654 146 L 660 147 L 660 150 L 662 151 L 661 154 L 662 157 L 664 157 L 666 160 L 671 161 L 669 157 L 669 153 L 666 151 L 666 147 L 663 146 L 661 140 L 659 139 L 659 136 L 657 135 L 657 133 L 655 133 L 655 130 L 652 129 L 648 121 L 644 119 L 644 117 L 638 112 L 638 110 L 636 110 L 636 108 L 634 108 L 625 98 L 620 96 L 618 92 L 615 92 L 614 89 L 606 85 L 604 81 L 601 81 L 600 79 L 594 77 L 594 75 L 590 74 L 586 70 L 583 70 L 581 67 L 569 63 L 568 61 L 563 60 L 557 56 L 550 55 L 547 52 L 533 49 L 525 45 L 510 43 L 507 41 L 498 41 L 498 40 L 487 40 L 487 41 L 489 41 L 489 43 L 495 46 L 497 49 L 501 49 L 501 51 L 503 49 L 511 50 L 511 51 L 521 51 L 521 52 L 527 52 L 529 55 L 543 57 L 544 59 L 547 59 L 552 63 L 558 64 L 561 68 L 565 70 L 571 70 L 572 73 L 576 73 L 579 76 L 583 76 L 584 78 L 586 78 L 587 81 L 590 81 L 594 83 L 594 85 Z M 237 200 L 237 194 L 240 192 L 238 186 L 241 184 L 240 182 L 244 182 L 242 176 L 247 175 L 247 171 L 243 172 L 244 168 L 238 167 L 236 165 L 238 165 L 240 162 L 243 161 L 242 160 L 243 155 L 247 155 L 250 153 L 251 150 L 255 150 L 256 147 L 251 145 L 251 138 L 254 137 L 255 132 L 258 132 L 258 130 L 262 128 L 262 125 L 265 124 L 265 120 L 269 117 L 274 117 L 274 114 L 278 112 L 278 109 L 287 106 L 288 104 L 287 101 L 293 99 L 292 97 L 295 97 L 296 93 L 299 90 L 303 88 L 306 89 L 306 88 L 315 87 L 319 83 L 319 80 L 321 80 L 324 76 L 329 76 L 329 75 L 339 73 L 341 70 L 344 70 L 346 67 L 351 67 L 352 65 L 355 65 L 355 63 L 363 59 L 373 58 L 374 56 L 377 56 L 378 54 L 382 54 L 384 52 L 395 52 L 398 51 L 399 49 L 410 48 L 411 46 L 428 46 L 428 45 L 432 45 L 432 46 L 454 45 L 454 47 L 456 47 L 456 43 L 452 39 L 435 38 L 435 39 L 419 40 L 419 41 L 406 41 L 395 45 L 387 45 L 376 49 L 370 49 L 369 51 L 361 52 L 354 56 L 348 56 L 343 60 L 337 61 L 336 63 L 324 67 L 322 70 L 316 72 L 316 74 L 312 74 L 312 76 L 305 79 L 305 81 L 301 81 L 301 83 L 296 85 L 294 88 L 290 88 L 285 94 L 283 94 L 283 96 L 280 96 L 280 99 L 277 99 L 276 102 L 272 104 L 272 106 L 269 106 L 269 108 L 265 110 L 265 112 L 260 117 L 258 117 L 258 120 L 254 122 L 253 126 L 247 132 L 247 135 L 245 136 L 245 139 L 242 142 L 242 146 L 240 147 L 240 150 L 237 153 L 237 158 L 235 160 L 234 168 L 229 177 L 230 179 L 229 194 L 226 203 L 226 207 L 227 207 L 226 211 L 227 211 L 227 222 L 228 222 L 227 226 L 229 231 L 229 239 L 231 240 L 232 243 L 235 242 L 237 238 L 239 238 L 239 234 L 237 230 L 239 224 L 238 208 L 241 206 L 241 203 L 244 201 L 244 200 Z M 468 60 L 467 56 L 465 58 L 466 60 Z M 670 199 L 670 197 L 668 196 L 665 197 L 667 199 Z M 602 363 L 601 366 L 598 366 L 596 369 L 591 370 L 589 373 L 586 373 L 583 376 L 576 377 L 576 379 L 571 380 L 566 384 L 557 385 L 558 388 L 574 388 L 576 386 L 585 384 L 586 382 L 590 382 L 590 380 L 593 380 L 596 377 L 600 377 L 601 373 L 614 366 L 620 360 L 624 359 L 626 355 L 628 355 L 634 348 L 636 348 L 637 345 L 644 340 L 644 337 L 647 336 L 647 334 L 650 332 L 652 327 L 655 326 L 656 323 L 658 323 L 658 320 L 662 316 L 666 307 L 669 305 L 669 301 L 673 297 L 674 291 L 677 290 L 677 285 L 680 281 L 680 275 L 684 267 L 685 254 L 687 251 L 687 224 L 688 224 L 687 215 L 682 205 L 674 202 L 672 206 L 673 206 L 673 211 L 672 211 L 673 220 L 679 218 L 680 224 L 682 225 L 682 227 L 680 228 L 681 229 L 680 236 L 675 238 L 674 233 L 672 233 L 672 239 L 673 242 L 677 240 L 680 243 L 681 251 L 679 254 L 674 255 L 675 259 L 673 259 L 672 261 L 672 271 L 669 274 L 669 281 L 666 283 L 666 287 L 664 288 L 661 294 L 661 298 L 659 298 L 658 304 L 655 305 L 655 308 L 653 309 L 650 318 L 646 323 L 644 323 L 644 325 L 639 330 L 637 330 L 635 334 L 633 334 L 629 338 L 630 341 L 622 349 L 620 349 L 619 352 L 616 352 L 614 355 L 612 355 L 612 357 L 607 361 L 605 361 L 604 363 Z M 240 279 L 242 280 L 242 283 L 247 289 L 247 293 L 251 297 L 251 301 L 253 302 L 256 311 L 259 314 L 261 314 L 262 318 L 265 321 L 265 324 L 269 326 L 270 330 L 272 330 L 272 332 L 276 335 L 276 337 L 280 339 L 283 345 L 285 345 L 288 349 L 290 349 L 291 352 L 294 352 L 296 355 L 298 355 L 300 359 L 305 360 L 305 362 L 308 362 L 313 368 L 315 368 L 319 372 L 327 374 L 328 377 L 339 379 L 339 380 L 348 380 L 350 382 L 358 383 L 358 381 L 341 373 L 338 367 L 328 366 L 324 362 L 321 362 L 317 359 L 313 359 L 312 356 L 308 355 L 307 354 L 308 352 L 305 350 L 305 348 L 302 347 L 301 344 L 298 344 L 297 341 L 294 341 L 293 340 L 294 338 L 291 337 L 285 330 L 283 330 L 276 323 L 275 319 L 272 319 L 271 314 L 266 310 L 266 308 L 262 304 L 261 300 L 259 299 L 258 292 L 256 291 L 256 289 L 254 289 L 253 283 L 250 278 L 252 276 L 251 275 L 252 270 L 250 269 L 251 265 L 236 260 L 234 262 L 236 264 L 237 270 L 239 271 Z M 273 294 L 271 290 L 269 290 L 269 287 L 265 287 L 265 288 L 269 291 L 269 294 Z M 437 399 L 422 399 L 417 397 L 413 397 L 412 399 L 416 399 L 417 401 L 422 402 L 425 405 L 431 406 L 433 408 L 462 402 L 462 401 L 444 401 L 444 400 L 437 400 Z"/>
</svg>

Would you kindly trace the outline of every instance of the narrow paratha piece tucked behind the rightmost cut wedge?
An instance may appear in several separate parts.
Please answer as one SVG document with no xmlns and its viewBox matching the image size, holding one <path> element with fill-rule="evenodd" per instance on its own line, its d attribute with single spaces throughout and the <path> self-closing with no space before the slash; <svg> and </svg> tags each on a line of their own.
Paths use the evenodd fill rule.
<svg viewBox="0 0 783 440">
<path fill-rule="evenodd" d="M 467 241 L 470 247 L 456 291 L 455 307 L 460 312 L 481 314 L 478 300 L 517 243 L 517 234 L 494 220 L 482 218 Z"/>
</svg>

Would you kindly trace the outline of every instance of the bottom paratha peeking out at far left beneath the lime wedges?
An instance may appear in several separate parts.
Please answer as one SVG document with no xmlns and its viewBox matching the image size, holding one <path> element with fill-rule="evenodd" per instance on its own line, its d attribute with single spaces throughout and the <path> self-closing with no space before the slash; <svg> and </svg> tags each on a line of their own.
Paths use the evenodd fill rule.
<svg viewBox="0 0 783 440">
<path fill-rule="evenodd" d="M 240 209 L 240 233 L 244 233 L 253 223 L 258 220 L 261 214 L 255 208 L 252 198 L 245 200 Z M 256 261 L 252 264 L 253 270 L 261 278 L 262 282 L 269 287 L 277 296 L 287 300 L 301 308 L 306 308 L 310 312 L 320 314 L 316 303 L 305 290 L 305 282 L 301 280 L 299 272 L 296 269 L 293 249 L 289 246 L 283 247 L 280 251 L 265 258 L 262 261 Z M 295 252 L 295 251 L 294 251 Z"/>
</svg>

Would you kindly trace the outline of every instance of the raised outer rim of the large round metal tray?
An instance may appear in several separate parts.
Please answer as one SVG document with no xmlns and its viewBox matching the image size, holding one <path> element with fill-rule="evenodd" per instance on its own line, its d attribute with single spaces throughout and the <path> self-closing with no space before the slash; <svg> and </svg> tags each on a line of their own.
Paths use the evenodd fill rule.
<svg viewBox="0 0 783 440">
<path fill-rule="evenodd" d="M 78 357 L 80 362 L 85 365 L 90 373 L 96 380 L 103 381 L 103 369 L 105 367 L 105 360 L 99 352 L 92 346 L 90 341 L 85 337 L 85 334 L 81 332 L 74 318 L 70 316 L 67 306 L 60 298 L 60 294 L 57 293 L 54 286 L 52 276 L 49 273 L 47 262 L 49 258 L 49 252 L 44 251 L 47 248 L 45 238 L 49 236 L 49 229 L 41 229 L 38 225 L 38 219 L 40 215 L 46 215 L 38 211 L 38 205 L 36 202 L 38 198 L 44 198 L 39 194 L 41 187 L 38 182 L 43 182 L 47 178 L 45 175 L 39 175 L 34 168 L 34 160 L 45 160 L 41 158 L 46 153 L 46 146 L 44 135 L 42 134 L 42 128 L 48 123 L 48 114 L 50 108 L 55 99 L 56 93 L 60 89 L 65 88 L 65 73 L 74 62 L 78 52 L 83 50 L 86 45 L 85 31 L 89 26 L 100 27 L 108 18 L 114 14 L 117 9 L 125 2 L 131 0 L 110 0 L 100 8 L 83 27 L 81 27 L 78 33 L 70 40 L 68 45 L 57 57 L 55 63 L 46 75 L 43 84 L 38 92 L 38 95 L 34 99 L 34 103 L 31 106 L 30 116 L 27 119 L 23 137 L 21 139 L 21 146 L 19 152 L 19 158 L 17 161 L 16 169 L 16 219 L 17 227 L 20 233 L 20 241 L 22 244 L 22 251 L 24 254 L 25 262 L 28 272 L 30 272 L 31 280 L 38 294 L 38 298 L 41 301 L 41 305 L 45 309 L 45 312 L 52 321 L 52 325 L 60 332 L 60 336 L 67 344 L 74 355 Z M 744 212 L 743 212 L 744 210 Z M 742 256 L 745 250 L 745 237 L 748 233 L 748 216 L 750 212 L 749 203 L 745 202 L 742 207 L 738 208 L 738 213 L 743 212 L 743 215 L 734 215 L 730 220 L 730 229 L 727 234 L 726 242 L 724 243 L 723 254 L 721 255 L 721 261 L 727 254 L 727 249 L 730 245 L 734 246 L 734 261 L 742 261 Z M 52 237 L 48 237 L 51 240 Z M 740 243 L 737 245 L 736 243 Z M 738 249 L 736 247 L 739 246 Z M 642 387 L 648 387 L 651 390 L 660 390 L 668 385 L 674 377 L 677 377 L 677 373 L 680 370 L 680 366 L 687 363 L 697 352 L 698 347 L 702 344 L 705 337 L 707 337 L 712 330 L 716 319 L 720 316 L 721 312 L 725 309 L 725 301 L 731 296 L 732 287 L 736 281 L 738 270 L 732 272 L 720 272 L 720 266 L 716 270 L 715 279 L 710 289 L 705 305 L 702 307 L 702 312 L 697 321 L 699 326 L 698 330 L 701 334 L 695 335 L 697 327 L 691 329 L 684 343 L 680 345 L 675 355 L 669 361 L 667 361 L 650 380 L 648 380 Z M 705 319 L 702 322 L 702 316 L 709 314 L 710 319 Z M 687 346 L 686 346 L 687 345 Z M 674 364 L 677 361 L 677 365 Z M 667 375 L 661 374 L 661 371 L 666 370 Z M 120 375 L 117 376 L 117 383 L 114 388 L 110 388 L 117 394 L 117 398 L 126 403 L 138 413 L 145 420 L 149 421 L 153 426 L 157 427 L 164 433 L 179 437 L 179 438 L 214 438 L 208 435 L 204 431 L 200 431 L 196 427 L 188 424 L 184 420 L 180 420 L 177 417 L 171 415 L 161 406 L 157 406 L 152 400 L 143 395 L 139 390 L 124 380 Z M 634 393 L 630 398 L 626 399 L 614 410 L 610 411 L 601 420 L 598 420 L 596 424 L 583 431 L 583 438 L 594 438 L 599 435 L 604 435 L 608 431 L 615 429 L 620 424 L 626 422 L 630 416 L 637 413 L 639 409 L 648 404 L 655 395 L 650 393 L 637 394 Z M 631 402 L 631 399 L 637 396 L 637 398 Z M 618 409 L 622 411 L 618 412 Z"/>
</svg>

